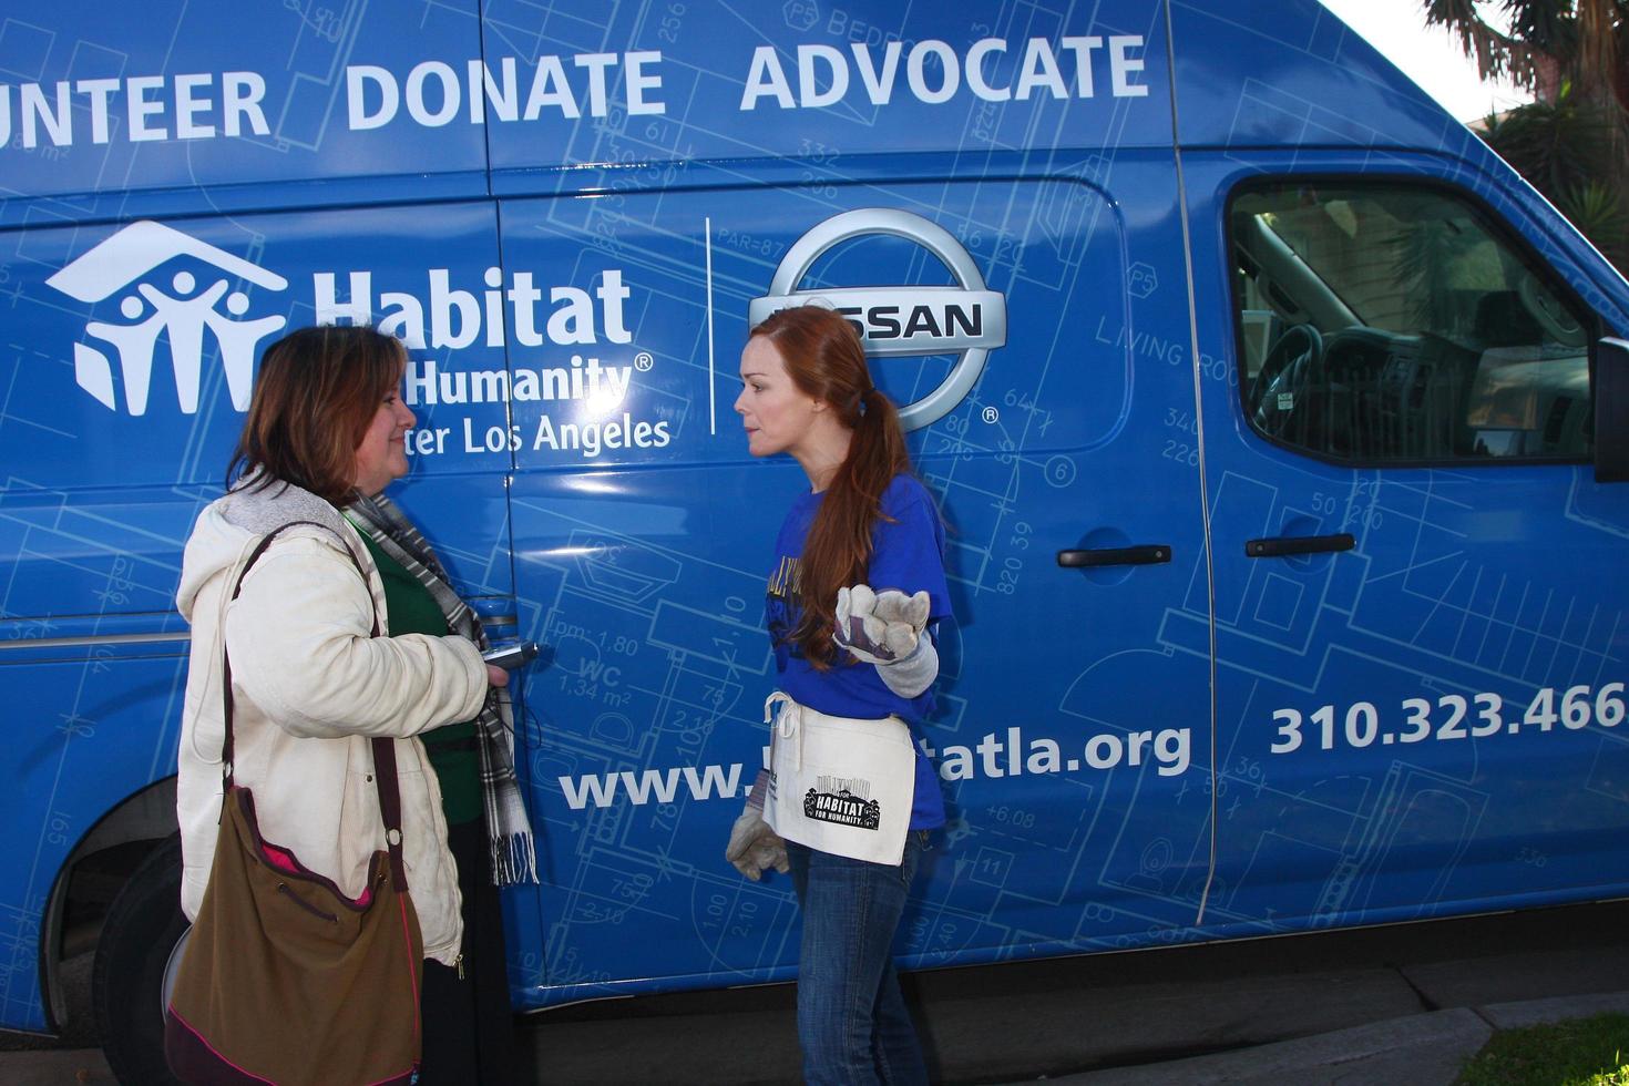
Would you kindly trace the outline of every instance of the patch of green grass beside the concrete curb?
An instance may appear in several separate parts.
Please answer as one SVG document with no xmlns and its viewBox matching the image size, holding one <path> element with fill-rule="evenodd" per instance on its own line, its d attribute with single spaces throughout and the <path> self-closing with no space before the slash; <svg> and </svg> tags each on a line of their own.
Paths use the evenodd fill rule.
<svg viewBox="0 0 1629 1086">
<path fill-rule="evenodd" d="M 1629 1086 L 1629 1014 L 1494 1034 L 1456 1086 Z"/>
</svg>

